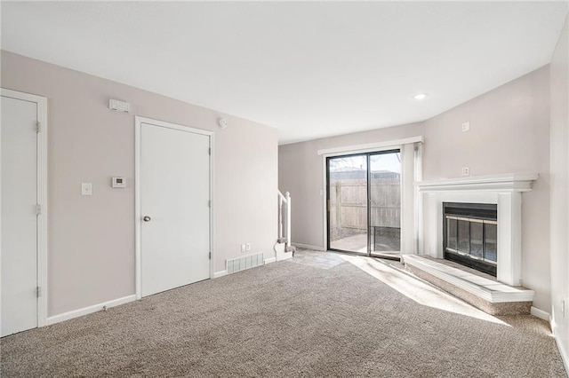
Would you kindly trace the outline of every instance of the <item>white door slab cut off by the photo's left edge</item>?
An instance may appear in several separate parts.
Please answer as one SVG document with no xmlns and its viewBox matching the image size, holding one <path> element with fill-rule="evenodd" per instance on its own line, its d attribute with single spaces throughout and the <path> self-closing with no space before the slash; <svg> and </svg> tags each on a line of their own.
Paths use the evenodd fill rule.
<svg viewBox="0 0 569 378">
<path fill-rule="evenodd" d="M 2 96 L 2 336 L 37 327 L 37 104 Z"/>
</svg>

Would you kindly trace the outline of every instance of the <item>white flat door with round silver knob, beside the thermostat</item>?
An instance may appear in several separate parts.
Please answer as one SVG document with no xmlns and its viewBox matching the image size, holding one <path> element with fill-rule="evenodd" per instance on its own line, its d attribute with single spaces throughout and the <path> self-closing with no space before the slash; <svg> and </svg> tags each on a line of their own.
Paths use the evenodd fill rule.
<svg viewBox="0 0 569 378">
<path fill-rule="evenodd" d="M 141 122 L 139 179 L 141 295 L 209 279 L 210 137 Z"/>
</svg>

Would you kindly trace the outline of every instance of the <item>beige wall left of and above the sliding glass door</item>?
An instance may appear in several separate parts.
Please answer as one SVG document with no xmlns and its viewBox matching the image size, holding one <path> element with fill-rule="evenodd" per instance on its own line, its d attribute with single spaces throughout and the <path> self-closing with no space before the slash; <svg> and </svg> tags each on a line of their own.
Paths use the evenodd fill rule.
<svg viewBox="0 0 569 378">
<path fill-rule="evenodd" d="M 278 187 L 293 198 L 293 243 L 325 248 L 323 157 L 318 150 L 411 138 L 423 134 L 421 123 L 293 143 L 278 148 Z"/>
</svg>

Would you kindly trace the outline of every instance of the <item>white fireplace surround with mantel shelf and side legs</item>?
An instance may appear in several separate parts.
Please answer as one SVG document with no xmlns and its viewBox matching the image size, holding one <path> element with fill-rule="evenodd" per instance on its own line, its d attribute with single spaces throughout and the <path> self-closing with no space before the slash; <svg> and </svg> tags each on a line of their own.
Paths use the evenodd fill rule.
<svg viewBox="0 0 569 378">
<path fill-rule="evenodd" d="M 522 278 L 522 192 L 532 190 L 538 174 L 505 174 L 421 181 L 424 193 L 421 252 L 443 258 L 443 202 L 494 203 L 498 208 L 497 280 L 521 286 Z"/>
</svg>

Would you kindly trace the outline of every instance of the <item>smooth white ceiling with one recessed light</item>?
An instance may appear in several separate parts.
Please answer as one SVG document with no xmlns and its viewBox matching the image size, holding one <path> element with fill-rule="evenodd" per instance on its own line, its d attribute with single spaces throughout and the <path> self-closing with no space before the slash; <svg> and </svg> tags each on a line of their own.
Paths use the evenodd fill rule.
<svg viewBox="0 0 569 378">
<path fill-rule="evenodd" d="M 440 114 L 548 64 L 567 15 L 566 1 L 1 7 L 4 50 L 276 127 L 281 144 Z"/>
</svg>

